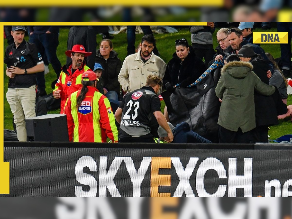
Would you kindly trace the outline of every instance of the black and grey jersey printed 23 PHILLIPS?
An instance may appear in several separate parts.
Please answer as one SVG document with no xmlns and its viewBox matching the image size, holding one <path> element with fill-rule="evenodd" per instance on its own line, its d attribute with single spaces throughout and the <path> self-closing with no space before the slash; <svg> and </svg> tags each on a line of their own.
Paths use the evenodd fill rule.
<svg viewBox="0 0 292 219">
<path fill-rule="evenodd" d="M 160 111 L 159 97 L 150 86 L 127 93 L 120 104 L 122 118 L 119 138 L 141 137 L 150 134 L 150 117 Z"/>
</svg>

